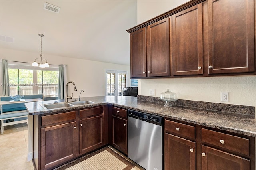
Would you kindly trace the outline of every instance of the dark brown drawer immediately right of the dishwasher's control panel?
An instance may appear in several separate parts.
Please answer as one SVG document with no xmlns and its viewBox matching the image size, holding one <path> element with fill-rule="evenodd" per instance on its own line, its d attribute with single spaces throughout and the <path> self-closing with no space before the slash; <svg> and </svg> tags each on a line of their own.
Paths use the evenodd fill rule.
<svg viewBox="0 0 256 170">
<path fill-rule="evenodd" d="M 196 127 L 186 125 L 183 123 L 178 123 L 174 121 L 165 120 L 164 121 L 164 130 L 167 133 L 180 134 L 189 138 L 196 138 Z"/>
</svg>

